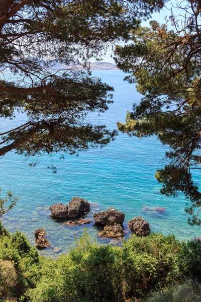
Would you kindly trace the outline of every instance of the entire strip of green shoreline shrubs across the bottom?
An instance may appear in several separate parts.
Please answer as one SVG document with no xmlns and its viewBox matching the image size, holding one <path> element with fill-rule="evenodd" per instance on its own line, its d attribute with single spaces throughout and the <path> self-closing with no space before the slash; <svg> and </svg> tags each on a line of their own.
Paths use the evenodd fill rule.
<svg viewBox="0 0 201 302">
<path fill-rule="evenodd" d="M 193 298 L 200 295 L 197 281 L 185 282 L 201 277 L 200 240 L 179 242 L 174 235 L 134 234 L 122 247 L 104 246 L 85 231 L 74 249 L 53 260 L 39 256 L 20 232 L 11 235 L 1 224 L 0 234 L 3 301 L 136 301 L 163 289 L 150 297 L 158 301 L 161 296 L 182 297 L 186 287 L 190 290 L 186 301 L 196 301 Z"/>
</svg>

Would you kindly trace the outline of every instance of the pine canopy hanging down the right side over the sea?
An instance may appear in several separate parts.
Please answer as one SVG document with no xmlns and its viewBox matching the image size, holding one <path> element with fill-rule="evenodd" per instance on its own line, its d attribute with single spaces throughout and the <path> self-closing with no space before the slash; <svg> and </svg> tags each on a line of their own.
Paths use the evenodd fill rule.
<svg viewBox="0 0 201 302">
<path fill-rule="evenodd" d="M 200 225 L 201 193 L 191 172 L 201 169 L 201 3 L 180 2 L 174 13 L 165 24 L 134 30 L 132 43 L 116 48 L 118 67 L 129 73 L 125 80 L 143 95 L 118 128 L 137 137 L 155 134 L 169 145 L 156 173 L 161 193 L 184 193 L 188 222 Z"/>
</svg>

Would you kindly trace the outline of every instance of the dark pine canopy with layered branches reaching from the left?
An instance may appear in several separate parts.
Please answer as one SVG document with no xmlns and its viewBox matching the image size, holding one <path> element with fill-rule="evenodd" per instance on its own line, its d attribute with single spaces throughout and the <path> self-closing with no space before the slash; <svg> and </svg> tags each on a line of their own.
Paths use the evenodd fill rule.
<svg viewBox="0 0 201 302">
<path fill-rule="evenodd" d="M 87 62 L 164 1 L 3 0 L 0 3 L 0 117 L 27 114 L 27 122 L 0 133 L 0 156 L 25 156 L 104 146 L 116 131 L 92 125 L 88 112 L 104 112 L 113 88 L 91 77 Z M 82 62 L 83 68 L 77 66 Z M 56 69 L 56 64 L 62 67 Z"/>
</svg>

